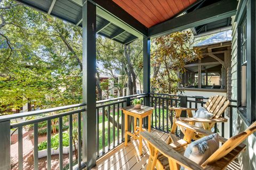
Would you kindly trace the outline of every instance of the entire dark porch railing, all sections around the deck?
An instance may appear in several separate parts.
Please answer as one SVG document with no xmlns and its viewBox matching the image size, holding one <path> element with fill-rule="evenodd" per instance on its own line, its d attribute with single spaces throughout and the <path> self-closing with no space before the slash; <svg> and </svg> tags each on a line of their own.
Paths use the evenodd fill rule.
<svg viewBox="0 0 256 170">
<path fill-rule="evenodd" d="M 159 131 L 169 133 L 173 125 L 174 111 L 171 111 L 169 107 L 189 107 L 198 108 L 203 106 L 208 98 L 196 97 L 196 96 L 179 96 L 179 95 L 169 95 L 169 94 L 138 94 L 126 97 L 118 97 L 107 100 L 97 101 L 96 115 L 97 115 L 97 158 L 99 159 L 107 152 L 113 150 L 115 147 L 124 142 L 124 115 L 121 111 L 122 107 L 129 106 L 132 100 L 135 98 L 143 98 L 143 105 L 149 105 L 154 107 L 154 112 L 151 115 L 151 128 Z M 147 102 L 146 102 L 147 101 Z M 236 102 L 235 100 L 231 100 Z M 3 158 L 1 162 L 1 168 L 9 169 L 11 164 L 11 154 L 10 154 L 10 134 L 15 130 L 18 131 L 18 168 L 23 169 L 23 128 L 30 127 L 33 128 L 34 132 L 34 169 L 38 169 L 38 134 L 39 134 L 39 124 L 46 122 L 46 141 L 47 141 L 47 169 L 51 169 L 51 137 L 52 128 L 58 126 L 59 135 L 59 167 L 63 169 L 63 132 L 68 130 L 69 143 L 74 144 L 74 134 L 76 134 L 75 141 L 73 145 L 69 144 L 69 169 L 82 169 L 85 167 L 85 163 L 82 161 L 82 114 L 85 112 L 86 104 L 77 104 L 70 106 L 62 106 L 51 109 L 44 109 L 41 111 L 26 112 L 20 114 L 6 115 L 0 117 L 0 132 L 1 132 L 1 145 L 0 145 L 0 157 Z M 216 125 L 214 131 L 221 132 L 224 137 L 225 129 L 229 128 L 229 137 L 232 135 L 232 116 L 233 116 L 234 105 L 229 105 L 229 122 L 221 123 L 221 130 L 219 130 Z M 186 116 L 183 115 L 183 116 Z M 224 113 L 222 114 L 224 116 Z M 19 118 L 28 118 L 25 121 L 18 121 L 12 123 L 13 120 Z M 57 124 L 53 123 L 53 120 L 57 120 Z M 75 123 L 74 123 L 75 122 Z M 133 130 L 133 118 L 129 116 L 129 131 Z M 147 121 L 145 126 L 147 128 Z M 65 129 L 66 127 L 66 129 Z M 180 135 L 179 130 L 177 135 Z M 77 160 L 73 160 L 73 151 L 77 152 Z M 14 151 L 15 152 L 15 151 Z M 77 161 L 77 162 L 76 162 Z M 76 165 L 74 165 L 74 163 Z M 9 165 L 8 165 L 9 164 Z"/>
</svg>

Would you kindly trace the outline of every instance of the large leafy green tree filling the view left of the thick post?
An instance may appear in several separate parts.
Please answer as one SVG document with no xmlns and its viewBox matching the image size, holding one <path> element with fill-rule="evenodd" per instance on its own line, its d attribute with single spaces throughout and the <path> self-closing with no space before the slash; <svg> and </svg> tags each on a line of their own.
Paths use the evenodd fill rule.
<svg viewBox="0 0 256 170">
<path fill-rule="evenodd" d="M 0 112 L 81 102 L 81 29 L 0 1 Z"/>
</svg>

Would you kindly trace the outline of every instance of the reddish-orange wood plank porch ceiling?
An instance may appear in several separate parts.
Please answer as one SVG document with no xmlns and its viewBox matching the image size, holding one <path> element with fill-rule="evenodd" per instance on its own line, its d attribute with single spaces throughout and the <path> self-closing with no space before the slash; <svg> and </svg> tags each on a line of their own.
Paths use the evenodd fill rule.
<svg viewBox="0 0 256 170">
<path fill-rule="evenodd" d="M 196 0 L 113 0 L 147 28 L 169 20 Z"/>
</svg>

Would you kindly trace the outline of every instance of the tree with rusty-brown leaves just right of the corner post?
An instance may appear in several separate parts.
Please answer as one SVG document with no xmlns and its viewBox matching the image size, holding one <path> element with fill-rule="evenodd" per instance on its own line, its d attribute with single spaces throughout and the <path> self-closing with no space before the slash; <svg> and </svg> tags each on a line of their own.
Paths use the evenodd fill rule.
<svg viewBox="0 0 256 170">
<path fill-rule="evenodd" d="M 153 78 L 151 79 L 151 91 L 176 94 L 180 81 L 177 72 L 186 72 L 186 63 L 201 58 L 201 51 L 199 48 L 191 46 L 193 37 L 192 33 L 187 30 L 155 38 L 152 41 Z"/>
</svg>

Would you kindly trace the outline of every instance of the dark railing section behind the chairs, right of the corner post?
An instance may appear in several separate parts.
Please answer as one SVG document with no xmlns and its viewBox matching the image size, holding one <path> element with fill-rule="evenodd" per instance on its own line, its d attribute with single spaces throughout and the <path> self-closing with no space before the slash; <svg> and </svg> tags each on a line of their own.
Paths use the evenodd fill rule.
<svg viewBox="0 0 256 170">
<path fill-rule="evenodd" d="M 169 107 L 188 107 L 199 108 L 203 106 L 209 98 L 199 96 L 182 96 L 182 95 L 170 95 L 170 94 L 154 94 L 150 95 L 150 106 L 154 107 L 151 118 L 151 128 L 169 133 L 173 125 L 174 111 L 170 111 Z M 236 103 L 236 100 L 230 100 L 231 103 Z M 220 132 L 222 137 L 225 137 L 225 129 L 228 128 L 228 137 L 233 135 L 233 108 L 235 105 L 229 105 L 227 109 L 228 123 L 221 123 L 221 130 L 219 130 L 218 124 L 214 126 L 214 132 Z M 186 113 L 181 114 L 182 117 L 186 117 Z M 222 114 L 225 116 L 225 113 Z M 226 116 L 227 117 L 227 116 Z M 177 131 L 177 135 L 180 132 Z"/>
</svg>

